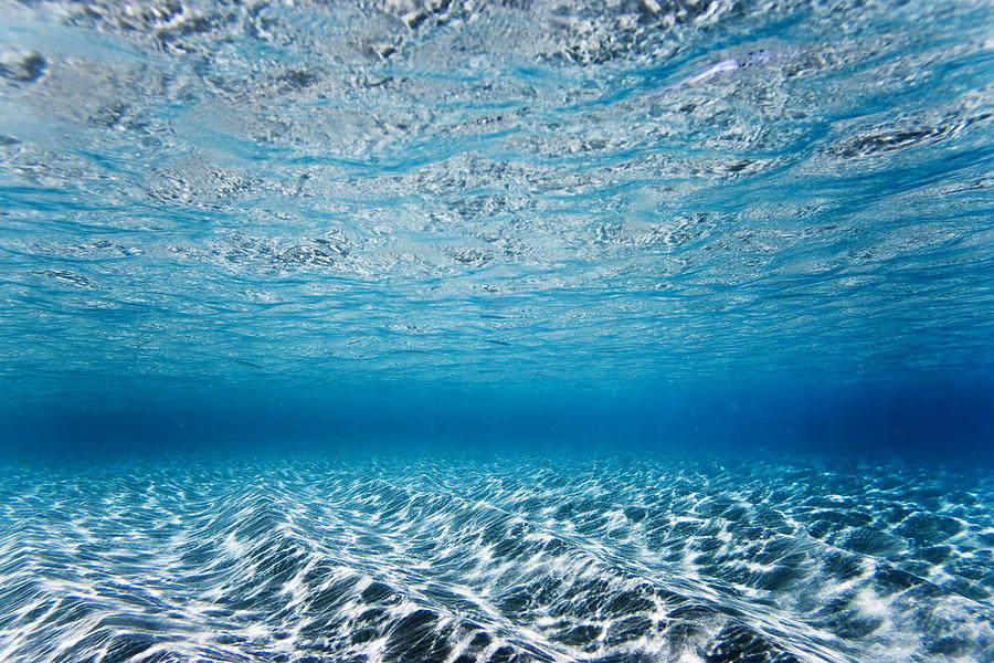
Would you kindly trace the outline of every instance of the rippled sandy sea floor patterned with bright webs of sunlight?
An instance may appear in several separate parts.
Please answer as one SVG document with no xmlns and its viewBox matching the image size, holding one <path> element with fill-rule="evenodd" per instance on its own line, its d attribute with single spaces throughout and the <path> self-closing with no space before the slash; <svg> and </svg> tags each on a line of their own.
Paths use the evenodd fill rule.
<svg viewBox="0 0 994 663">
<path fill-rule="evenodd" d="M 992 661 L 992 549 L 930 465 L 8 465 L 0 660 Z"/>
</svg>

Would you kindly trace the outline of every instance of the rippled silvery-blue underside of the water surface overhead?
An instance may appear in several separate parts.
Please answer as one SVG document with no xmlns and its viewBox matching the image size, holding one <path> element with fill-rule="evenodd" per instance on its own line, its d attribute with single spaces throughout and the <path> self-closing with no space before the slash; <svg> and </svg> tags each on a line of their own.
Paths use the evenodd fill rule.
<svg viewBox="0 0 994 663">
<path fill-rule="evenodd" d="M 4 0 L 0 376 L 983 375 L 991 18 Z"/>
</svg>

